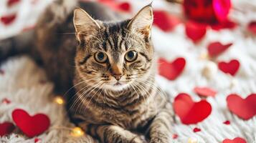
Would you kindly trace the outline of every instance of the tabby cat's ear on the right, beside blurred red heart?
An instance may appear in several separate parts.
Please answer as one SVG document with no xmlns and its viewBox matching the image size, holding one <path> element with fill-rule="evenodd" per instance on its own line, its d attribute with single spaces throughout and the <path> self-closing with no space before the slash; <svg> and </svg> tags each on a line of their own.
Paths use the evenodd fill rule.
<svg viewBox="0 0 256 143">
<path fill-rule="evenodd" d="M 138 14 L 129 22 L 128 29 L 136 30 L 148 38 L 151 36 L 153 24 L 153 9 L 151 5 L 152 3 L 138 11 Z"/>
</svg>

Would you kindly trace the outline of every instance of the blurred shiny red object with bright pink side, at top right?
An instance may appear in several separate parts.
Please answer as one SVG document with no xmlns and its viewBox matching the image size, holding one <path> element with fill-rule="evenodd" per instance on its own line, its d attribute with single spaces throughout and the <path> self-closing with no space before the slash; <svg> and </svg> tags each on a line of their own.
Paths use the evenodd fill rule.
<svg viewBox="0 0 256 143">
<path fill-rule="evenodd" d="M 189 19 L 210 24 L 228 20 L 230 0 L 184 0 L 184 12 Z"/>
</svg>

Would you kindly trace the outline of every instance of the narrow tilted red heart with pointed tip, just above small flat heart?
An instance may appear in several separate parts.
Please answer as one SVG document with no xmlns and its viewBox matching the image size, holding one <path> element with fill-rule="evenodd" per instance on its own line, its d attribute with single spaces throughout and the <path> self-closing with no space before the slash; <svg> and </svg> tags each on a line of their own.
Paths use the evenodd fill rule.
<svg viewBox="0 0 256 143">
<path fill-rule="evenodd" d="M 222 52 L 227 50 L 229 46 L 232 46 L 232 43 L 223 45 L 219 41 L 212 42 L 208 45 L 209 56 L 218 56 L 219 54 L 222 54 Z"/>
</svg>

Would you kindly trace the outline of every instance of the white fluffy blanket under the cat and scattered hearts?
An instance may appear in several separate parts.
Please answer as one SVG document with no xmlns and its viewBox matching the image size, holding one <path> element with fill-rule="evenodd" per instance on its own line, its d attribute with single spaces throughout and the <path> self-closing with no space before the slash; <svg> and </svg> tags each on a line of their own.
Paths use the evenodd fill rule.
<svg viewBox="0 0 256 143">
<path fill-rule="evenodd" d="M 0 1 L 0 16 L 18 12 L 14 24 L 4 26 L 0 24 L 0 39 L 17 34 L 24 27 L 31 26 L 39 13 L 51 0 L 38 0 L 36 5 L 29 0 L 22 1 L 14 8 L 7 8 L 6 0 Z M 133 12 L 137 11 L 147 1 L 131 1 Z M 226 97 L 228 94 L 237 93 L 241 97 L 256 93 L 256 35 L 245 36 L 246 26 L 251 20 L 256 20 L 256 1 L 233 1 L 232 19 L 238 21 L 240 26 L 233 31 L 207 31 L 205 39 L 194 44 L 186 38 L 184 25 L 180 24 L 174 31 L 165 33 L 160 29 L 153 28 L 153 43 L 160 56 L 173 60 L 177 56 L 183 56 L 187 63 L 181 76 L 169 81 L 157 76 L 158 84 L 174 99 L 180 92 L 191 95 L 195 101 L 200 98 L 194 94 L 194 87 L 212 87 L 217 90 L 216 97 L 208 97 L 207 101 L 212 104 L 212 114 L 199 124 L 181 124 L 179 117 L 174 115 L 173 134 L 178 137 L 173 142 L 222 142 L 224 139 L 242 137 L 248 143 L 256 142 L 256 117 L 247 121 L 238 118 L 227 109 Z M 166 9 L 176 13 L 181 12 L 180 6 L 172 6 L 164 1 L 154 1 L 153 6 L 158 9 Z M 216 64 L 202 58 L 206 52 L 209 41 L 232 42 L 232 48 L 219 56 L 217 61 L 238 59 L 240 69 L 235 77 L 229 77 L 217 69 Z M 203 71 L 209 66 L 212 77 L 207 79 Z M 38 112 L 47 114 L 51 124 L 47 132 L 34 138 L 27 138 L 19 130 L 9 136 L 0 137 L 0 142 L 93 142 L 87 135 L 75 137 L 72 134 L 74 124 L 68 120 L 65 108 L 54 102 L 52 94 L 53 84 L 46 81 L 43 69 L 39 69 L 34 61 L 26 56 L 15 57 L 4 63 L 0 69 L 0 101 L 4 98 L 11 101 L 10 104 L 0 102 L 0 123 L 13 122 L 11 112 L 16 108 L 25 109 L 29 114 Z M 230 124 L 223 124 L 229 120 Z M 193 132 L 194 127 L 202 129 L 201 132 Z M 37 140 L 36 139 L 36 140 Z"/>
</svg>

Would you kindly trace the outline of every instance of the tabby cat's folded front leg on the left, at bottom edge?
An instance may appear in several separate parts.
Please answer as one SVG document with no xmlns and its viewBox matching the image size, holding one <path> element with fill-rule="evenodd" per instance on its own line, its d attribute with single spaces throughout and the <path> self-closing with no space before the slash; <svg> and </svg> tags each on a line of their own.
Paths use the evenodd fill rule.
<svg viewBox="0 0 256 143">
<path fill-rule="evenodd" d="M 103 143 L 144 143 L 137 134 L 115 125 L 90 125 L 87 132 Z"/>
</svg>

